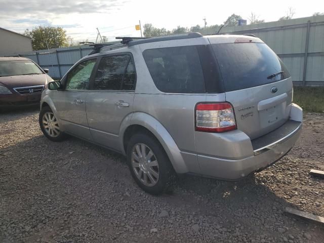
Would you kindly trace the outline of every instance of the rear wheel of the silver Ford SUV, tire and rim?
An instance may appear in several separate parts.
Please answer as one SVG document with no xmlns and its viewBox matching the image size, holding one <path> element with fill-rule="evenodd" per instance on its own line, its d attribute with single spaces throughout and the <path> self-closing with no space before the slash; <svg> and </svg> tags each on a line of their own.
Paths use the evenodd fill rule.
<svg viewBox="0 0 324 243">
<path fill-rule="evenodd" d="M 136 183 L 146 192 L 171 192 L 176 173 L 160 143 L 147 134 L 135 134 L 127 146 L 127 162 Z"/>
</svg>

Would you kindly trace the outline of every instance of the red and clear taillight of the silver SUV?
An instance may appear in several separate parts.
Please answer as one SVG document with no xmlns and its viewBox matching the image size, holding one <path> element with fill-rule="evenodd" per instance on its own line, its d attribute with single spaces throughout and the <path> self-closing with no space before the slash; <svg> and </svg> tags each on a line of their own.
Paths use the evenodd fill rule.
<svg viewBox="0 0 324 243">
<path fill-rule="evenodd" d="M 236 129 L 234 110 L 229 103 L 196 105 L 195 130 L 222 133 Z"/>
</svg>

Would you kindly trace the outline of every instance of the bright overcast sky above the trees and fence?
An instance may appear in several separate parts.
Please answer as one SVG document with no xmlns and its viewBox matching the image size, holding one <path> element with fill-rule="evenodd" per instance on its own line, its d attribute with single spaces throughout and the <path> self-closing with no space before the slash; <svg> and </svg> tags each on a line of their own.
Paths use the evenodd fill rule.
<svg viewBox="0 0 324 243">
<path fill-rule="evenodd" d="M 96 27 L 102 35 L 140 36 L 135 25 L 152 23 L 167 29 L 178 25 L 190 27 L 221 24 L 235 13 L 248 19 L 254 12 L 266 22 L 276 21 L 287 15 L 292 7 L 294 18 L 324 12 L 324 1 L 308 0 L 231 0 L 231 1 L 182 1 L 182 0 L 0 0 L 0 27 L 22 33 L 26 28 L 39 25 L 61 26 L 74 41 L 96 38 Z"/>
</svg>

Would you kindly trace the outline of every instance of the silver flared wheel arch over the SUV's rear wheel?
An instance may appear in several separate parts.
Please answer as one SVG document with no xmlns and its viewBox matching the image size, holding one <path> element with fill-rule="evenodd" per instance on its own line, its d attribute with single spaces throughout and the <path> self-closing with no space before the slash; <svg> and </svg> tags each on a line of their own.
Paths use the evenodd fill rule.
<svg viewBox="0 0 324 243">
<path fill-rule="evenodd" d="M 133 113 L 128 126 L 121 126 L 121 131 L 119 133 L 120 147 L 125 155 L 127 151 L 127 143 L 132 135 L 136 133 L 147 133 L 150 136 L 153 136 L 166 151 L 171 164 L 177 173 L 189 172 L 180 149 L 167 129 L 153 116 L 143 112 Z"/>
</svg>

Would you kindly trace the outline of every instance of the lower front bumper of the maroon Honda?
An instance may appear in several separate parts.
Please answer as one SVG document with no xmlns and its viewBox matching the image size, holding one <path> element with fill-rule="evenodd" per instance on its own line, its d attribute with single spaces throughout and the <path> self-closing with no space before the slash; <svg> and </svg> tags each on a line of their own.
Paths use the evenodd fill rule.
<svg viewBox="0 0 324 243">
<path fill-rule="evenodd" d="M 0 94 L 0 107 L 28 106 L 39 104 L 42 94 Z"/>
</svg>

